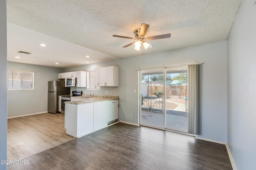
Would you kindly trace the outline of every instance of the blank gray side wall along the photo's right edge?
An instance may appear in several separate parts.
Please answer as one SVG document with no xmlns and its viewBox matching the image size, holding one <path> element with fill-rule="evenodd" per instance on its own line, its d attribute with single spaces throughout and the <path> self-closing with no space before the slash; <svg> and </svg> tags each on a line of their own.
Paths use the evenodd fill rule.
<svg viewBox="0 0 256 170">
<path fill-rule="evenodd" d="M 228 145 L 237 169 L 256 167 L 256 6 L 242 1 L 228 36 Z"/>
</svg>

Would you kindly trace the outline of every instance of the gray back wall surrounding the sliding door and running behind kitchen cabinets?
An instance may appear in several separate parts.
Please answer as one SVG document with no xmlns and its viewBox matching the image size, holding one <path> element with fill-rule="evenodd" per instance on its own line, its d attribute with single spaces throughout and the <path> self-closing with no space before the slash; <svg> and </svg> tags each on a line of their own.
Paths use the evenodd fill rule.
<svg viewBox="0 0 256 170">
<path fill-rule="evenodd" d="M 139 53 L 139 52 L 138 52 Z M 97 67 L 118 66 L 119 87 L 100 87 L 100 90 L 86 90 L 97 95 L 117 95 L 120 99 L 119 119 L 127 121 L 127 112 L 134 113 L 138 124 L 138 67 L 155 67 L 182 63 L 203 62 L 202 65 L 202 136 L 227 142 L 227 69 L 226 41 L 164 51 L 160 53 L 117 59 L 108 62 L 82 65 L 64 69 L 68 71 L 92 71 Z M 78 89 L 78 88 L 72 88 Z"/>
</svg>

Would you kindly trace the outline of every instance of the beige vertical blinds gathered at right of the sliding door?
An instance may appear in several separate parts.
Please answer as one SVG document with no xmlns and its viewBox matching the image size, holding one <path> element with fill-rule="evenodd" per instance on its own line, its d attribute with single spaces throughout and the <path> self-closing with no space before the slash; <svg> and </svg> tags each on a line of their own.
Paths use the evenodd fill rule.
<svg viewBox="0 0 256 170">
<path fill-rule="evenodd" d="M 201 134 L 201 64 L 188 65 L 188 133 Z"/>
</svg>

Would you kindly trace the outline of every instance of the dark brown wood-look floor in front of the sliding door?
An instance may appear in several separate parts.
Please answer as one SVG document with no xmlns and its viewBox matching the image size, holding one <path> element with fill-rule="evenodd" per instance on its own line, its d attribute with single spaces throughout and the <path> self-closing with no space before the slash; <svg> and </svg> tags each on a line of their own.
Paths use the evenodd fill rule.
<svg viewBox="0 0 256 170">
<path fill-rule="evenodd" d="M 225 145 L 124 123 L 75 138 L 23 163 L 9 165 L 8 170 L 232 169 Z"/>
</svg>

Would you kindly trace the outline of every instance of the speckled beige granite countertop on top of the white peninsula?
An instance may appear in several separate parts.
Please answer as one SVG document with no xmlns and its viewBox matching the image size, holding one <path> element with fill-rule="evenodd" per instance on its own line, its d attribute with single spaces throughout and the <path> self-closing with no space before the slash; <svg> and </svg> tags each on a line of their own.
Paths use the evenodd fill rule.
<svg viewBox="0 0 256 170">
<path fill-rule="evenodd" d="M 86 103 L 94 103 L 99 101 L 110 101 L 110 100 L 118 100 L 118 96 L 94 96 L 94 97 L 80 97 L 74 96 L 72 98 L 76 99 L 86 99 L 86 101 L 65 101 L 65 103 L 73 104 L 73 105 L 82 105 Z"/>
</svg>

